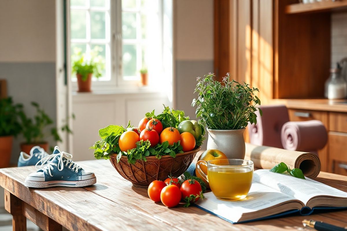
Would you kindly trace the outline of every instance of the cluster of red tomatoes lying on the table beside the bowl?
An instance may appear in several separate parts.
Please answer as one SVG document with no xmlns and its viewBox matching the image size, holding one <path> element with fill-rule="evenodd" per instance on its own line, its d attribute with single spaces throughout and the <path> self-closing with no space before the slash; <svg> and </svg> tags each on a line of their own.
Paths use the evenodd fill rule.
<svg viewBox="0 0 347 231">
<path fill-rule="evenodd" d="M 154 180 L 148 187 L 148 196 L 154 202 L 161 202 L 171 208 L 182 200 L 194 203 L 202 197 L 201 185 L 194 179 L 183 182 L 178 178 L 167 178 L 165 181 Z M 189 205 L 189 204 L 188 204 Z"/>
</svg>

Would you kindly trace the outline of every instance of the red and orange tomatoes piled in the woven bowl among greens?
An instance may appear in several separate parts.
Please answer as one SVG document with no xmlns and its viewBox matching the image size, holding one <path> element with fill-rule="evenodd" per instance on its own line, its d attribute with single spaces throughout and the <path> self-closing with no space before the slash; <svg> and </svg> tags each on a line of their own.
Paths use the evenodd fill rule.
<svg viewBox="0 0 347 231">
<path fill-rule="evenodd" d="M 160 120 L 148 117 L 141 119 L 138 127 L 128 128 L 126 132 L 121 134 L 118 141 L 119 148 L 121 151 L 127 152 L 136 148 L 136 142 L 139 140 L 149 140 L 151 147 L 159 142 L 168 141 L 169 145 L 173 145 L 180 141 L 184 152 L 191 151 L 195 147 L 195 137 L 191 133 L 183 132 L 180 134 L 174 127 L 163 129 Z"/>
</svg>

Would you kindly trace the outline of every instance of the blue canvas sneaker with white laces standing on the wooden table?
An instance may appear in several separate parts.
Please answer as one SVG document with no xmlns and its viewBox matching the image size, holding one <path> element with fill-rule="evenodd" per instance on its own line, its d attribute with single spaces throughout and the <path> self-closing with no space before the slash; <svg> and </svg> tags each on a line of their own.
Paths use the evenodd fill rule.
<svg viewBox="0 0 347 231">
<path fill-rule="evenodd" d="M 36 163 L 36 168 L 41 163 L 37 168 L 39 170 L 26 177 L 25 185 L 32 188 L 47 188 L 54 186 L 84 187 L 95 184 L 94 173 L 83 170 L 71 158 L 71 154 L 60 152 L 56 146 L 52 155 L 46 156 Z M 50 162 L 48 163 L 48 161 Z"/>
</svg>

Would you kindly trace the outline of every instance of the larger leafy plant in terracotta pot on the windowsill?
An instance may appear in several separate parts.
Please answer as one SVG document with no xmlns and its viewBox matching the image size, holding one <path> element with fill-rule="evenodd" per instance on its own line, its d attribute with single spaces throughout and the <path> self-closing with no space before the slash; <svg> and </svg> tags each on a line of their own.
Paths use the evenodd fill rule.
<svg viewBox="0 0 347 231">
<path fill-rule="evenodd" d="M 91 92 L 92 75 L 95 78 L 101 77 L 105 68 L 105 61 L 99 55 L 101 47 L 95 46 L 90 53 L 82 53 L 82 50 L 75 48 L 74 54 L 71 56 L 72 72 L 76 73 L 78 92 Z"/>
</svg>

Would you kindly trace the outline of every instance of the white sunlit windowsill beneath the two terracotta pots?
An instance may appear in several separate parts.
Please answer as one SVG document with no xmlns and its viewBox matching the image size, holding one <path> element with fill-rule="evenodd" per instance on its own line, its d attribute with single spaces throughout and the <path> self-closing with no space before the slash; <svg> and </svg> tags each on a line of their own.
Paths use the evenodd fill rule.
<svg viewBox="0 0 347 231">
<path fill-rule="evenodd" d="M 134 94 L 162 94 L 163 92 L 151 86 L 142 86 L 134 88 L 116 88 L 114 90 L 92 90 L 92 92 L 73 91 L 73 96 L 82 95 L 134 95 Z"/>
</svg>

